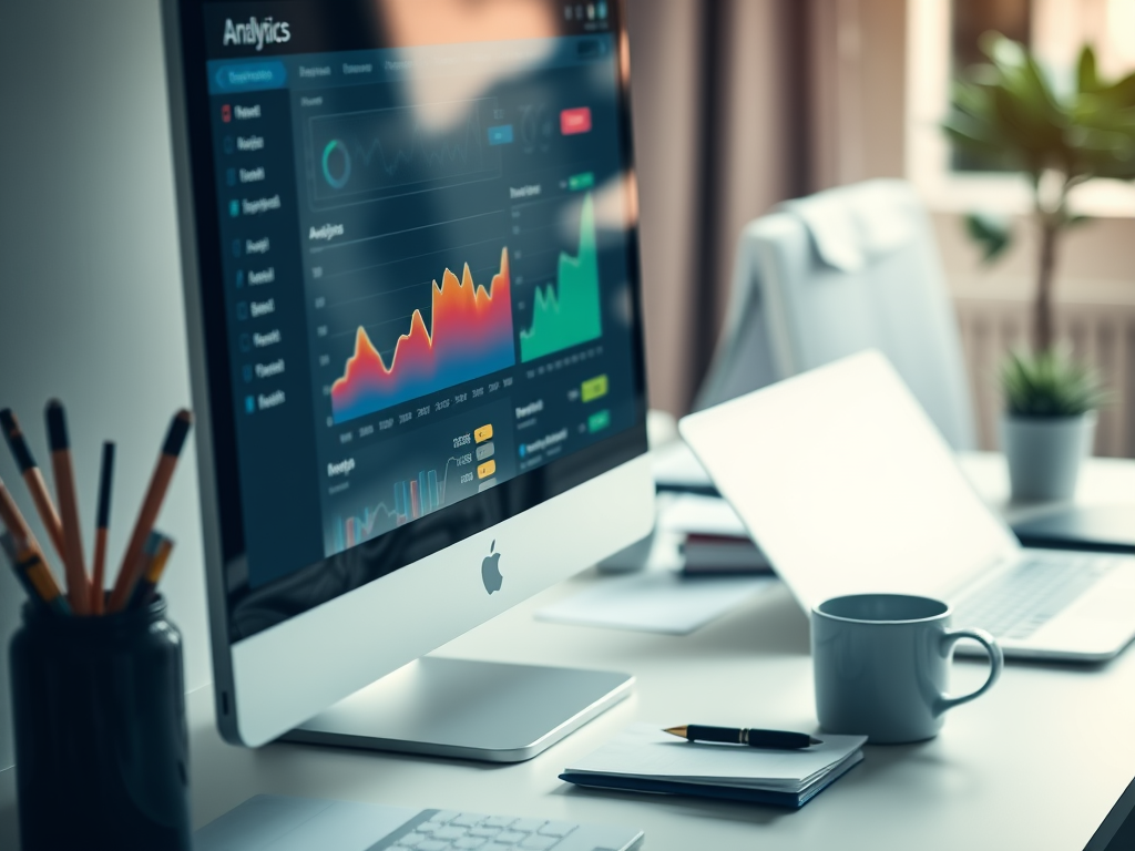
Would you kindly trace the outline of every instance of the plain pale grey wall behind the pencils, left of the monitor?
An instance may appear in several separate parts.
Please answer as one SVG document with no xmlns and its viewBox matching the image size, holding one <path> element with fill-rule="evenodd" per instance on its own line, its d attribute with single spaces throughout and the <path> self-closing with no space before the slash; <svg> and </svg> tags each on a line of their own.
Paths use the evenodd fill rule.
<svg viewBox="0 0 1135 851">
<path fill-rule="evenodd" d="M 47 463 L 43 404 L 67 405 L 89 558 L 99 447 L 118 441 L 117 568 L 168 419 L 190 402 L 155 1 L 0 6 L 0 407 L 16 410 Z M 177 540 L 162 587 L 187 690 L 210 679 L 195 464 L 191 449 L 159 520 Z M 0 477 L 34 519 L 6 448 Z M 7 644 L 19 598 L 0 571 L 0 770 L 12 761 Z"/>
</svg>

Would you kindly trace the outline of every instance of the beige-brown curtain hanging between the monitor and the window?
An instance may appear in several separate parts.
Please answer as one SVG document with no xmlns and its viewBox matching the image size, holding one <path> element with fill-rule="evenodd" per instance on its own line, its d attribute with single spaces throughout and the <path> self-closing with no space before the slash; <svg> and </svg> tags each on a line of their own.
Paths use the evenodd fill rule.
<svg viewBox="0 0 1135 851">
<path fill-rule="evenodd" d="M 684 413 L 745 224 L 901 176 L 906 0 L 630 0 L 630 31 L 650 403 Z"/>
</svg>

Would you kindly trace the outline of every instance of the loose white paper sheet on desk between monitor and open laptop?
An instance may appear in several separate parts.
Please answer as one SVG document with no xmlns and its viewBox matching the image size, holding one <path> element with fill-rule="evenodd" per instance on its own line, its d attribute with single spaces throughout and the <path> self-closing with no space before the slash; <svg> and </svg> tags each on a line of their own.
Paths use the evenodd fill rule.
<svg viewBox="0 0 1135 851">
<path fill-rule="evenodd" d="M 773 585 L 772 576 L 686 578 L 667 570 L 606 576 L 536 613 L 539 621 L 686 635 Z"/>
</svg>

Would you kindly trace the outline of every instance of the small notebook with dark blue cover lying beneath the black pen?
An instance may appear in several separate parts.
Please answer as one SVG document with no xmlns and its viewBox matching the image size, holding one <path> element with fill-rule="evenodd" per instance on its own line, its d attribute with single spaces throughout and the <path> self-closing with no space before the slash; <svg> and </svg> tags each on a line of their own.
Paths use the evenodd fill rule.
<svg viewBox="0 0 1135 851">
<path fill-rule="evenodd" d="M 634 724 L 565 768 L 579 786 L 717 798 L 799 809 L 863 760 L 867 736 L 818 734 L 805 750 L 686 742 L 662 724 Z"/>
</svg>

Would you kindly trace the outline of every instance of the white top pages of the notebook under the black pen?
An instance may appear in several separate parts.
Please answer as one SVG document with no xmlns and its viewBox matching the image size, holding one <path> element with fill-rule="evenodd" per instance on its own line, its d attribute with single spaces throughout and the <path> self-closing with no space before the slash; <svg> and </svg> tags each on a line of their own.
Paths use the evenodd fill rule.
<svg viewBox="0 0 1135 851">
<path fill-rule="evenodd" d="M 798 787 L 858 751 L 863 735 L 818 734 L 823 744 L 806 750 L 684 742 L 662 732 L 663 724 L 633 724 L 569 772 L 648 777 L 721 785 Z"/>
</svg>

